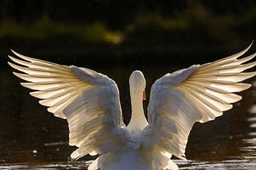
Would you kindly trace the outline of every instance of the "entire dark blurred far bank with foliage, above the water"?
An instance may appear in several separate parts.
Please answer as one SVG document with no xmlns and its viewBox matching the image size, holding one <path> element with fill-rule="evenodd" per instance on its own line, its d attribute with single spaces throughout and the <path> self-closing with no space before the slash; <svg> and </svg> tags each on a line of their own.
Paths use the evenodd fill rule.
<svg viewBox="0 0 256 170">
<path fill-rule="evenodd" d="M 86 51 L 94 60 L 131 52 L 186 57 L 196 50 L 215 57 L 213 51 L 237 52 L 256 37 L 256 1 L 4 0 L 0 6 L 0 54 L 18 47 Z M 202 58 L 198 52 L 193 60 Z"/>
</svg>

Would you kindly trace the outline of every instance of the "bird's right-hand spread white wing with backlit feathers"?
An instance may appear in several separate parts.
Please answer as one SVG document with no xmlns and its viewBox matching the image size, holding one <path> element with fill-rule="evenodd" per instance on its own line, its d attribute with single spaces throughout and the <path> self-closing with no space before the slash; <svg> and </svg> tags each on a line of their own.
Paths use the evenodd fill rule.
<svg viewBox="0 0 256 170">
<path fill-rule="evenodd" d="M 142 146 L 151 152 L 159 151 L 166 157 L 174 154 L 185 159 L 189 132 L 196 122 L 214 120 L 232 108 L 242 97 L 233 92 L 251 85 L 239 83 L 256 72 L 243 72 L 255 67 L 256 62 L 243 64 L 256 53 L 238 59 L 250 48 L 222 60 L 193 65 L 166 74 L 151 87 L 148 107 L 149 125 L 144 129 Z"/>
</svg>

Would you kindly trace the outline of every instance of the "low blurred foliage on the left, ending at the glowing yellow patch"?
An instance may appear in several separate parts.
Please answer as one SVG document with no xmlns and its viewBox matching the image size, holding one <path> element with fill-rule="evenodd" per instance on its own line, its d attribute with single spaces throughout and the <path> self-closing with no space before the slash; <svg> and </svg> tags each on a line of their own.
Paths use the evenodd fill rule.
<svg viewBox="0 0 256 170">
<path fill-rule="evenodd" d="M 118 35 L 118 34 L 117 34 Z M 68 24 L 55 23 L 46 15 L 36 23 L 16 23 L 4 21 L 0 23 L 1 39 L 21 40 L 77 40 L 78 42 L 105 43 L 115 42 L 112 36 L 114 32 L 107 30 L 102 23 L 92 24 Z"/>
</svg>

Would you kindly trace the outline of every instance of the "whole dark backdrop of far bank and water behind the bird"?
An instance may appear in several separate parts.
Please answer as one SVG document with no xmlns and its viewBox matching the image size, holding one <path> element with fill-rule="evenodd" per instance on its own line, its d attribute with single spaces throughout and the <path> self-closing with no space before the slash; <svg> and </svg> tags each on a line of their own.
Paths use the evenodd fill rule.
<svg viewBox="0 0 256 170">
<path fill-rule="evenodd" d="M 0 163 L 65 161 L 75 149 L 68 147 L 65 120 L 48 113 L 11 74 L 10 49 L 107 74 L 119 86 L 128 123 L 128 79 L 134 69 L 142 70 L 147 81 L 146 111 L 156 79 L 243 50 L 256 38 L 255 28 L 253 0 L 0 1 Z M 252 45 L 249 53 L 255 51 Z M 248 131 L 247 109 L 255 103 L 252 91 L 241 95 L 243 101 L 222 118 L 196 124 L 188 159 L 241 154 L 242 142 L 234 139 Z"/>
</svg>

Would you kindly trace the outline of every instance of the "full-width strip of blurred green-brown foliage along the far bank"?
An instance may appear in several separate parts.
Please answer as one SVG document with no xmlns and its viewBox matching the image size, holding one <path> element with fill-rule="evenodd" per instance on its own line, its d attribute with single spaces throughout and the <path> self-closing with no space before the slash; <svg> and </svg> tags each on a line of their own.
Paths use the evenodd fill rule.
<svg viewBox="0 0 256 170">
<path fill-rule="evenodd" d="M 69 41 L 77 45 L 193 45 L 240 42 L 255 38 L 256 8 L 236 16 L 227 13 L 214 15 L 201 3 L 186 8 L 176 16 L 161 13 L 139 14 L 124 28 L 113 30 L 104 22 L 58 22 L 46 13 L 35 22 L 2 20 L 0 40 Z M 70 43 L 67 42 L 68 45 Z"/>
</svg>

